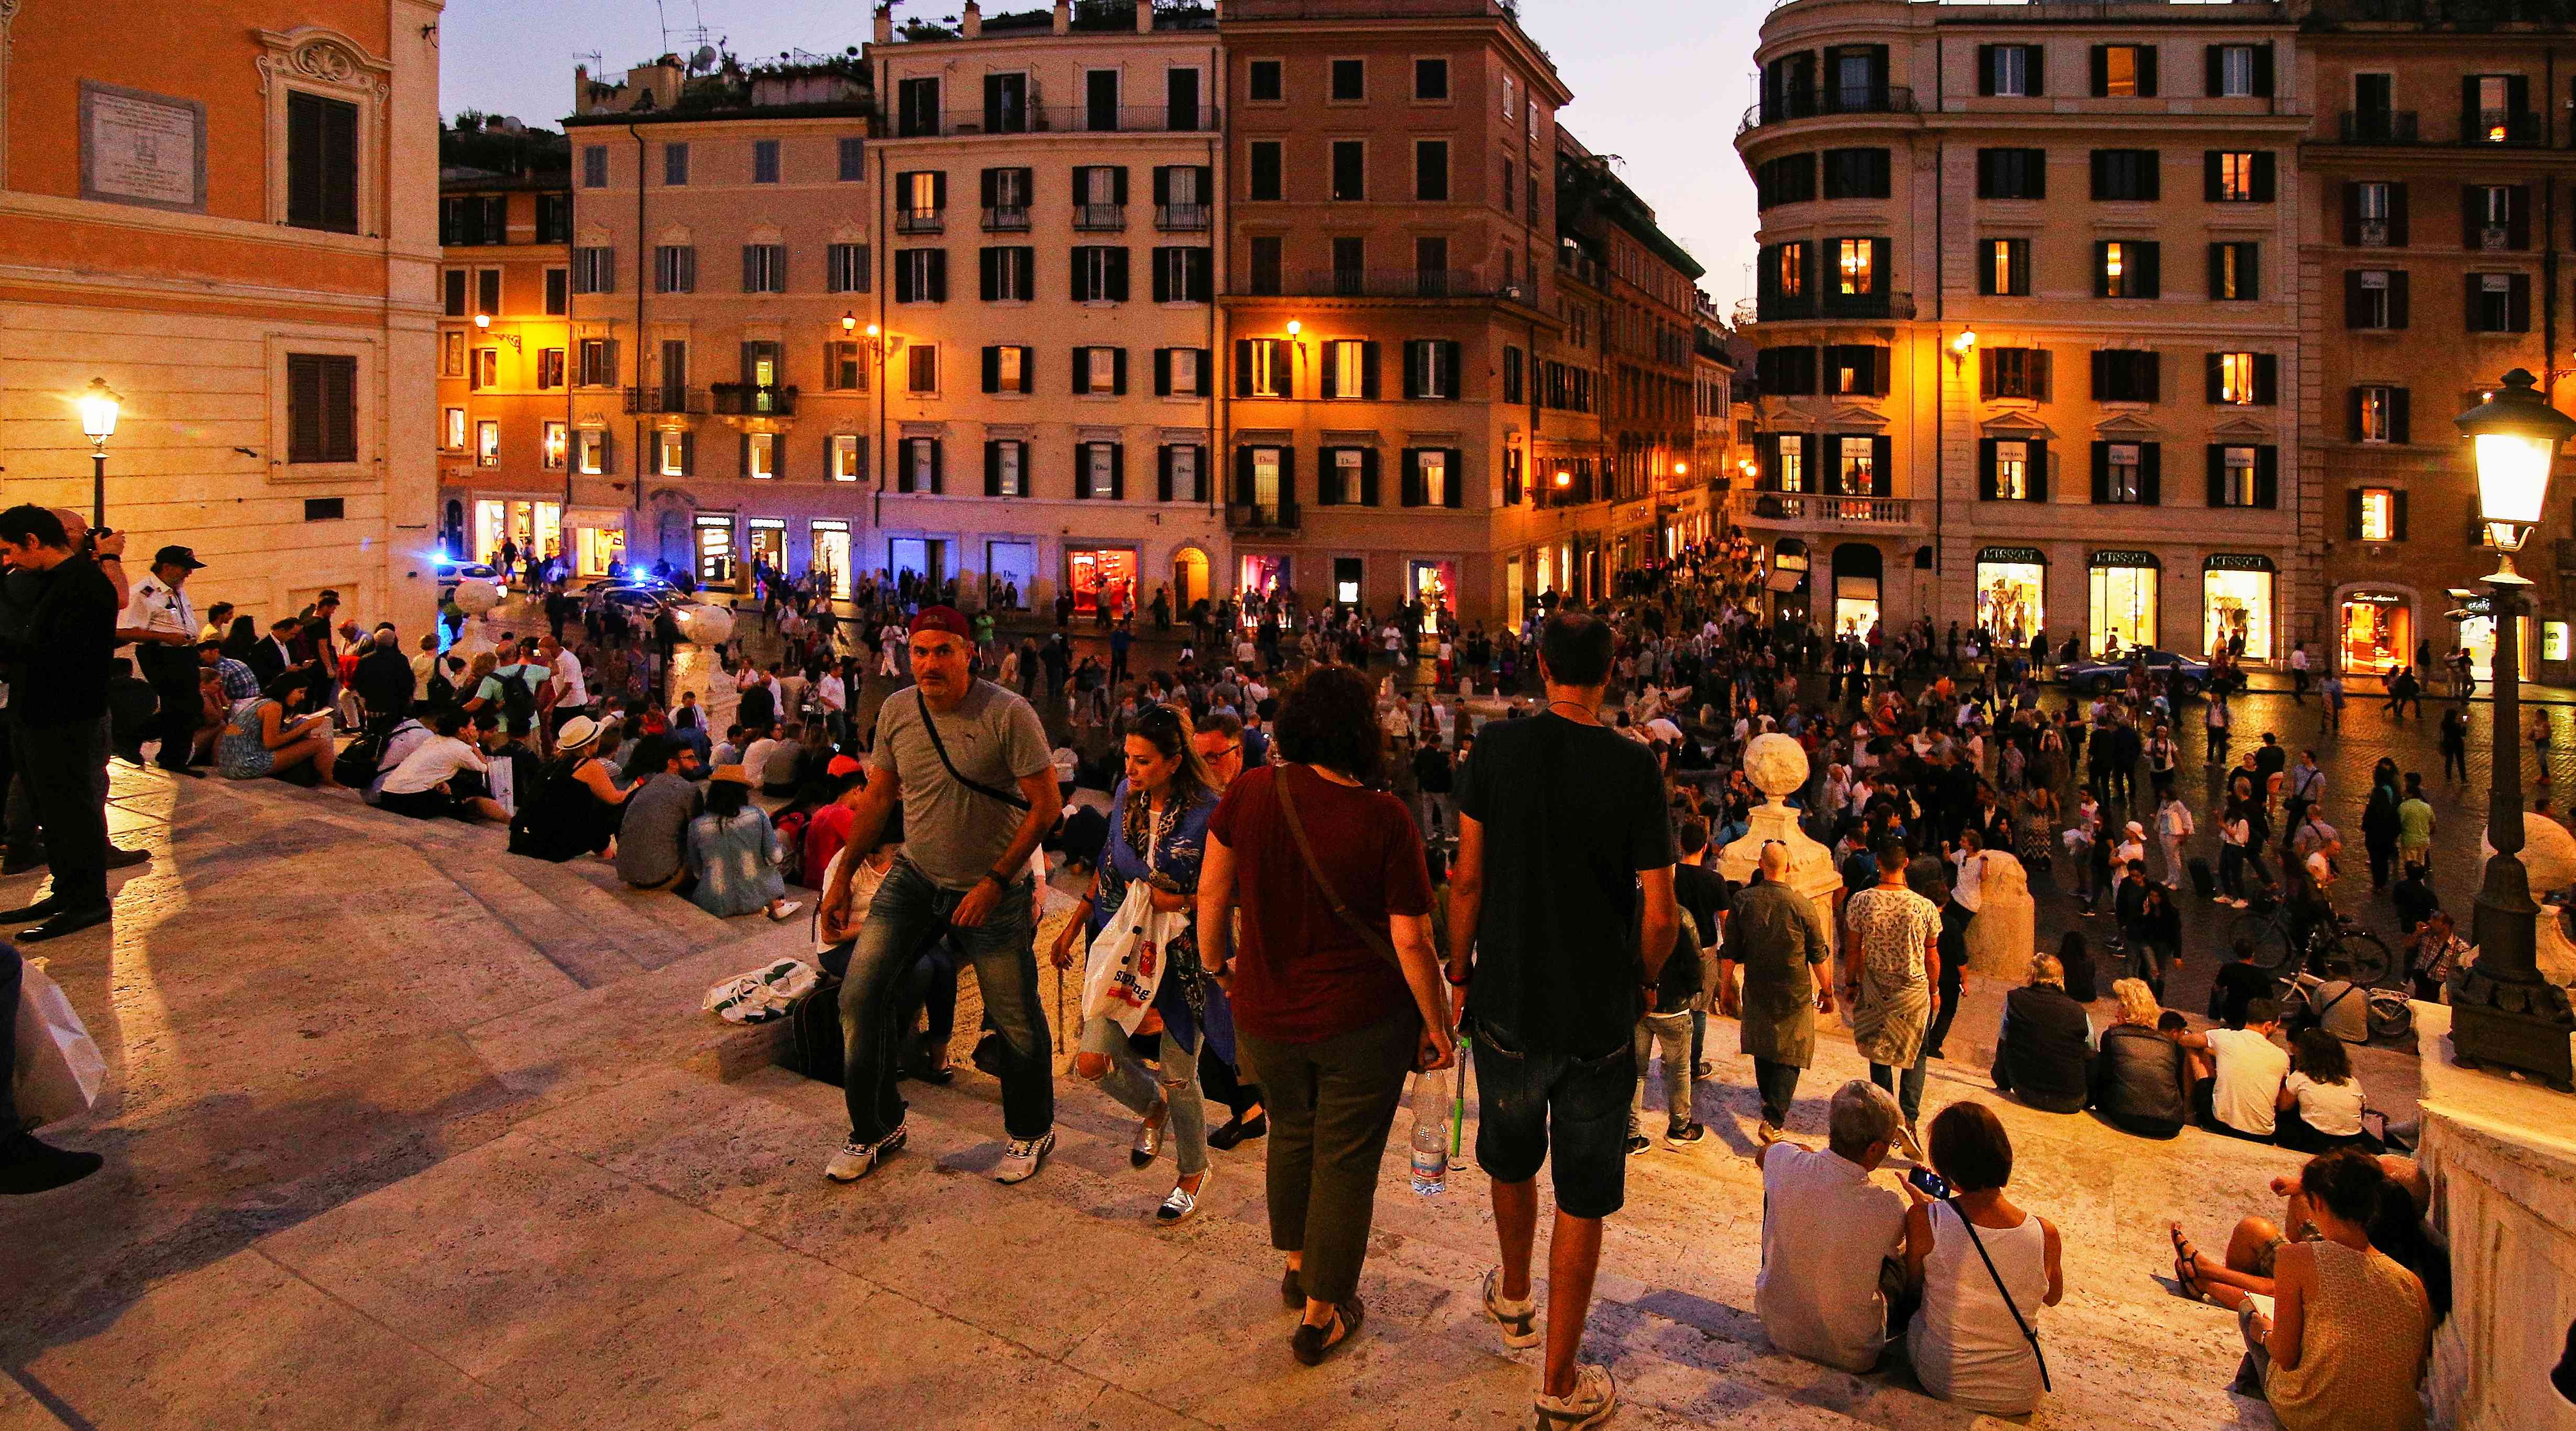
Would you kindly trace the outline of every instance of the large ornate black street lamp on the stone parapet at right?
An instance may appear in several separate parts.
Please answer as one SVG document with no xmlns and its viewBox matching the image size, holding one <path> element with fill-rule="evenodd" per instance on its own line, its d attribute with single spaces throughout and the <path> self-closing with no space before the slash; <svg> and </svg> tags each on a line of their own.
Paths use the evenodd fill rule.
<svg viewBox="0 0 2576 1431">
<path fill-rule="evenodd" d="M 2568 995 L 2537 967 L 2532 879 L 2522 866 L 2522 616 L 2532 580 L 2514 570 L 2514 552 L 2548 508 L 2550 467 L 2558 446 L 2576 436 L 2576 418 L 2548 405 L 2524 369 L 2504 374 L 2504 387 L 2455 418 L 2478 459 L 2478 511 L 2496 541 L 2501 567 L 2486 578 L 2496 624 L 2496 706 L 2488 730 L 2494 779 L 2486 794 L 2486 884 L 2478 890 L 2478 962 L 2450 975 L 2450 1039 L 2463 1067 L 2483 1062 L 2519 1067 L 2558 1088 L 2571 1088 L 2568 1034 L 2576 1013 Z"/>
</svg>

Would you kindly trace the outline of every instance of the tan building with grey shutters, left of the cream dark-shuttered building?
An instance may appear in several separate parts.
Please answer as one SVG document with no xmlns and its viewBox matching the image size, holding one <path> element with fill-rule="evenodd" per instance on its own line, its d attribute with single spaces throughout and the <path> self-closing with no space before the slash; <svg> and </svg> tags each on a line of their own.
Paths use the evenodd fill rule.
<svg viewBox="0 0 2576 1431">
<path fill-rule="evenodd" d="M 629 562 L 714 588 L 876 565 L 871 113 L 855 57 L 574 72 L 567 549 L 621 511 Z"/>
</svg>

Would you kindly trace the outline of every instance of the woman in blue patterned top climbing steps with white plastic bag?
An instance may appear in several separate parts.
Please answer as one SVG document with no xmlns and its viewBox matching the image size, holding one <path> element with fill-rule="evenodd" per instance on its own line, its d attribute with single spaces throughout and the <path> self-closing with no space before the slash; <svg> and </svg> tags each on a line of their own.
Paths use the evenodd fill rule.
<svg viewBox="0 0 2576 1431">
<path fill-rule="evenodd" d="M 1110 794 L 1110 838 L 1082 897 L 1079 923 L 1066 923 L 1051 954 L 1059 969 L 1074 967 L 1074 931 L 1084 928 L 1100 946 L 1110 920 L 1144 882 L 1157 913 L 1198 913 L 1198 866 L 1208 848 L 1208 817 L 1216 815 L 1216 781 L 1190 748 L 1190 719 L 1172 706 L 1144 706 L 1126 732 L 1126 779 Z M 1144 1168 L 1177 1140 L 1172 1160 L 1180 1181 L 1154 1209 L 1154 1222 L 1177 1227 L 1198 1214 L 1208 1191 L 1208 1109 L 1198 1088 L 1198 1052 L 1211 1034 L 1224 1034 L 1216 1055 L 1234 1060 L 1231 1026 L 1211 1026 L 1208 982 L 1198 964 L 1198 936 L 1182 923 L 1162 946 L 1162 982 L 1154 985 L 1151 1016 L 1162 1018 L 1162 1075 L 1146 1070 L 1128 1031 L 1115 1018 L 1082 1024 L 1082 1052 L 1074 1073 L 1103 1085 L 1128 1111 L 1141 1114 L 1128 1163 Z M 1084 988 L 1090 977 L 1084 975 Z M 1218 995 L 1224 998 L 1224 995 Z M 1157 1088 L 1159 1083 L 1159 1088 Z"/>
</svg>

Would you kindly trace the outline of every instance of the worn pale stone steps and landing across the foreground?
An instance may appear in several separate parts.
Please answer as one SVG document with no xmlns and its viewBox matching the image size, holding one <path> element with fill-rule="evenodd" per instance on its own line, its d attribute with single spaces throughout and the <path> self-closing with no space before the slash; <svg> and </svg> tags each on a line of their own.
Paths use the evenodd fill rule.
<svg viewBox="0 0 2576 1431">
<path fill-rule="evenodd" d="M 2357 737 L 2342 758 L 2367 768 Z M 598 861 L 276 781 L 118 766 L 111 823 L 152 861 L 118 871 L 113 928 L 44 949 L 108 1057 L 98 1109 L 52 1137 L 108 1168 L 0 1202 L 0 1431 L 1528 1423 L 1535 1361 L 1476 1307 L 1484 1176 L 1406 1191 L 1401 1116 L 1368 1330 L 1306 1372 L 1273 1300 L 1262 1142 L 1218 1153 L 1206 1217 L 1167 1232 L 1170 1168 L 1131 1171 L 1133 1122 L 1074 1080 L 1048 1168 L 994 1186 L 999 1091 L 961 1067 L 904 1085 L 912 1145 L 884 1173 L 827 1186 L 840 1091 L 773 1067 L 775 1026 L 698 1011 L 714 980 L 806 949 L 801 920 L 714 920 Z M 2014 1196 L 2066 1235 L 2069 1300 L 2040 1318 L 2058 1390 L 2030 1426 L 2267 1426 L 2226 1392 L 2233 1323 L 2169 1292 L 2164 1220 L 2213 1245 L 2275 1212 L 2264 1183 L 2295 1158 L 1996 1098 L 1976 1049 L 1996 995 L 1971 990 L 1927 1111 L 1991 1104 Z M 1734 1047 L 1716 1021 L 1718 1078 L 1695 1088 L 1713 1137 L 1628 1163 L 1589 1330 L 1625 1390 L 1615 1426 L 1981 1426 L 1904 1372 L 1824 1372 L 1762 1336 Z M 2365 1065 L 2375 1104 L 2411 1101 L 2406 1067 Z M 1819 1037 L 1793 1132 L 1819 1137 L 1857 1073 L 1847 1037 Z"/>
</svg>

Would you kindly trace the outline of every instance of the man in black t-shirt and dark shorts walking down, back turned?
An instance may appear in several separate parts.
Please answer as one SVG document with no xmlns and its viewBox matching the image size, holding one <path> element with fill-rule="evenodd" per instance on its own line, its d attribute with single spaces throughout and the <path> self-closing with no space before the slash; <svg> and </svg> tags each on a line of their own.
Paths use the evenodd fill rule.
<svg viewBox="0 0 2576 1431">
<path fill-rule="evenodd" d="M 1551 616 L 1538 642 L 1546 712 L 1489 725 L 1458 774 L 1448 975 L 1466 985 L 1473 967 L 1476 1160 L 1494 1181 L 1502 1243 L 1484 1307 L 1507 1346 L 1538 1341 L 1530 1243 L 1553 1140 L 1543 1423 L 1582 1421 L 1615 1397 L 1610 1372 L 1579 1367 L 1577 1351 L 1602 1220 L 1625 1199 L 1631 1039 L 1682 918 L 1654 753 L 1595 714 L 1610 645 L 1595 616 Z"/>
</svg>

